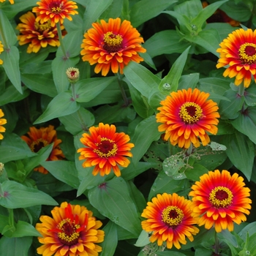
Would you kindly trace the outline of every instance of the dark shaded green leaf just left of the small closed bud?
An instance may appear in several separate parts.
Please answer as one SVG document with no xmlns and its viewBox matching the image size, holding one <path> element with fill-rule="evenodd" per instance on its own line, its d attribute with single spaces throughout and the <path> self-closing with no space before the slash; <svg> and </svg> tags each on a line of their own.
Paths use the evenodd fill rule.
<svg viewBox="0 0 256 256">
<path fill-rule="evenodd" d="M 55 97 L 57 95 L 52 74 L 22 74 L 21 81 L 29 89 L 36 91 L 39 94 L 45 94 L 50 97 Z"/>
</svg>

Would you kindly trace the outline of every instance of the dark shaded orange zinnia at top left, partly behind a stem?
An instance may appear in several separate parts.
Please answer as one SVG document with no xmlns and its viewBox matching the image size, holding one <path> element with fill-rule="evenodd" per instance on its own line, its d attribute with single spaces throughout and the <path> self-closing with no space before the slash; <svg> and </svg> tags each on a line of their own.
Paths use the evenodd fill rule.
<svg viewBox="0 0 256 256">
<path fill-rule="evenodd" d="M 29 44 L 27 53 L 37 53 L 40 48 L 45 48 L 47 45 L 53 47 L 59 46 L 59 36 L 56 26 L 50 26 L 50 20 L 45 23 L 38 23 L 32 12 L 20 16 L 22 23 L 19 23 L 16 29 L 20 30 L 18 35 L 19 45 Z M 61 30 L 64 26 L 61 26 Z M 66 34 L 65 31 L 62 35 Z"/>
</svg>

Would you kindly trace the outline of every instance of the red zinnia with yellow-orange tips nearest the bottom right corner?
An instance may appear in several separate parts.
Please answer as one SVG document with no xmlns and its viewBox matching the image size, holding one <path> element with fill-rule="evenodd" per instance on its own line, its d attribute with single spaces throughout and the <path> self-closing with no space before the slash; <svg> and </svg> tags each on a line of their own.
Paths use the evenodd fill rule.
<svg viewBox="0 0 256 256">
<path fill-rule="evenodd" d="M 200 181 L 192 185 L 192 216 L 199 217 L 198 225 L 206 229 L 215 227 L 217 232 L 234 229 L 233 222 L 241 224 L 246 221 L 244 214 L 251 208 L 249 188 L 244 187 L 244 178 L 227 170 L 209 171 L 200 176 Z"/>
</svg>

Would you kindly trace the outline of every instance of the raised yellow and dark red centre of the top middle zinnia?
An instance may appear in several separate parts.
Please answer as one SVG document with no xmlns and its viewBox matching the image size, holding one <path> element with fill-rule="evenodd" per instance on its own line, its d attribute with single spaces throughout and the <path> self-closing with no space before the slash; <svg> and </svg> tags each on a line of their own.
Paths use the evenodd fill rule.
<svg viewBox="0 0 256 256">
<path fill-rule="evenodd" d="M 113 34 L 113 32 L 107 32 L 103 37 L 103 49 L 107 50 L 108 53 L 116 53 L 118 50 L 121 50 L 121 43 L 123 38 L 120 34 Z"/>
</svg>

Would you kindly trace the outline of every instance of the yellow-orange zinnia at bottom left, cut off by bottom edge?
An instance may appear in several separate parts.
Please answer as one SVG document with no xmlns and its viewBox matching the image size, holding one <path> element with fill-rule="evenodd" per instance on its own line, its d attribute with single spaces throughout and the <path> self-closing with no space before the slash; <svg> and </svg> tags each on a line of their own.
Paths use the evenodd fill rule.
<svg viewBox="0 0 256 256">
<path fill-rule="evenodd" d="M 67 202 L 51 211 L 53 218 L 41 216 L 36 229 L 42 237 L 37 253 L 43 256 L 97 256 L 105 233 L 98 230 L 102 222 L 96 220 L 85 206 L 73 206 Z"/>
</svg>

